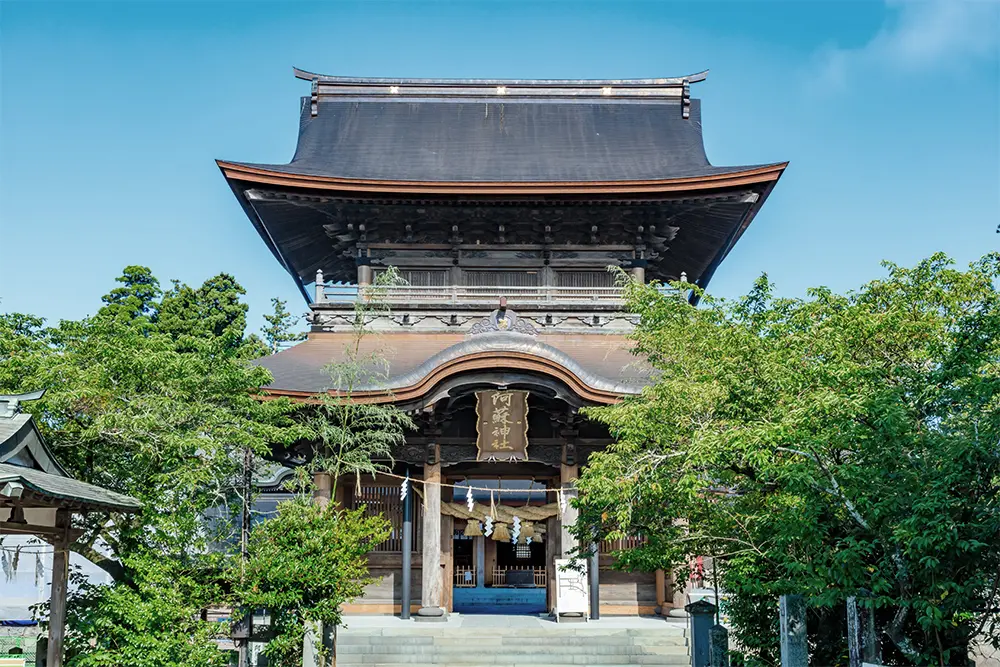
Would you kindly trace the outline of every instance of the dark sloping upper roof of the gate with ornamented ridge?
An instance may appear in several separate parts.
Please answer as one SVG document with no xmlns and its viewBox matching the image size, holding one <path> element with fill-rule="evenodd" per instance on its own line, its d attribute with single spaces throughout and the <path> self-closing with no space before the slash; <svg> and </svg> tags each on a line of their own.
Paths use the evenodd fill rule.
<svg viewBox="0 0 1000 667">
<path fill-rule="evenodd" d="M 296 70 L 303 97 L 287 165 L 224 169 L 407 183 L 609 183 L 739 174 L 702 142 L 700 100 L 671 79 L 361 79 Z"/>
</svg>

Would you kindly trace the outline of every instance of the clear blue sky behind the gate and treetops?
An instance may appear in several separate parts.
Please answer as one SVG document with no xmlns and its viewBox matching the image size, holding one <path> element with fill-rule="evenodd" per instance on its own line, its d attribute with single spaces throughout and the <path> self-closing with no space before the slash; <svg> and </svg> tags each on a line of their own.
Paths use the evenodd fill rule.
<svg viewBox="0 0 1000 667">
<path fill-rule="evenodd" d="M 714 164 L 789 160 L 711 291 L 846 290 L 1000 235 L 1000 3 L 0 2 L 0 310 L 78 318 L 127 264 L 304 304 L 215 158 L 285 162 L 292 67 L 631 78 L 710 69 Z"/>
</svg>

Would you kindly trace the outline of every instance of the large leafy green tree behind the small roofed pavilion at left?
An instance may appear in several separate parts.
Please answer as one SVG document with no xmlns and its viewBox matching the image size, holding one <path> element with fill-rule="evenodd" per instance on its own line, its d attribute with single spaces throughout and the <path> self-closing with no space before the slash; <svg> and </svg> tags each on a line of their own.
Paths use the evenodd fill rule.
<svg viewBox="0 0 1000 667">
<path fill-rule="evenodd" d="M 148 269 L 128 267 L 118 282 L 82 321 L 43 329 L 34 318 L 0 318 L 0 392 L 46 389 L 25 407 L 59 460 L 143 503 L 138 516 L 92 514 L 78 526 L 71 548 L 115 580 L 73 600 L 70 639 L 87 665 L 140 664 L 126 657 L 130 642 L 153 652 L 218 631 L 176 621 L 216 595 L 212 547 L 230 537 L 242 453 L 309 435 L 294 405 L 255 397 L 271 377 L 247 361 L 264 349 L 244 336 L 243 290 L 232 277 L 163 293 Z M 206 523 L 220 508 L 222 520 Z M 109 625 L 119 632 L 101 629 Z"/>
</svg>

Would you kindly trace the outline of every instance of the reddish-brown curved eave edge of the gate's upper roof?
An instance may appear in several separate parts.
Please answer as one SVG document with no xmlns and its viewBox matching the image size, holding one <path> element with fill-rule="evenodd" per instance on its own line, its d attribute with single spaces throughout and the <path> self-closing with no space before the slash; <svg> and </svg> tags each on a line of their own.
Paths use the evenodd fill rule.
<svg viewBox="0 0 1000 667">
<path fill-rule="evenodd" d="M 636 181 L 396 181 L 297 173 L 290 165 L 216 160 L 227 180 L 317 190 L 412 194 L 642 194 L 706 190 L 776 181 L 788 162 L 732 167 L 696 176 Z"/>
</svg>

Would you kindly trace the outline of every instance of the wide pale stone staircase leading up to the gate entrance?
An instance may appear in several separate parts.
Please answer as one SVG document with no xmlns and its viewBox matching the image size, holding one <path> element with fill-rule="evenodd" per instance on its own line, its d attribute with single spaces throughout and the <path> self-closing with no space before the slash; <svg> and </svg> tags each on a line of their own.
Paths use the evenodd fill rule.
<svg viewBox="0 0 1000 667">
<path fill-rule="evenodd" d="M 337 667 L 691 664 L 683 626 L 602 628 L 598 623 L 347 628 L 338 634 Z"/>
</svg>

